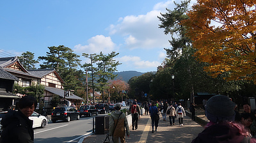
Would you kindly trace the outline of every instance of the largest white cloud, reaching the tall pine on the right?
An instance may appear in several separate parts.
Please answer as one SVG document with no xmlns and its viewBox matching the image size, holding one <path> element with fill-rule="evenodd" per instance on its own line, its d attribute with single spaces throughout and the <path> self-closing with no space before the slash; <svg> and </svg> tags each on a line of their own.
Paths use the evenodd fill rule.
<svg viewBox="0 0 256 143">
<path fill-rule="evenodd" d="M 155 7 L 161 7 L 160 5 Z M 146 15 L 128 15 L 120 18 L 118 24 L 108 27 L 109 33 L 124 38 L 125 47 L 129 49 L 169 47 L 170 36 L 164 34 L 164 29 L 159 29 L 161 22 L 157 16 L 161 16 L 160 12 L 161 10 L 152 10 Z"/>
</svg>

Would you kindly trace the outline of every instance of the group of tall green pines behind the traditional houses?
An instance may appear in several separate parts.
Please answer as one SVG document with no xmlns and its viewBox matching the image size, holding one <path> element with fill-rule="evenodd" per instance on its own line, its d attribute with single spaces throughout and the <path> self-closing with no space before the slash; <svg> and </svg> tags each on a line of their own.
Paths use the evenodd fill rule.
<svg viewBox="0 0 256 143">
<path fill-rule="evenodd" d="M 83 53 L 82 56 L 90 59 L 90 62 L 81 64 L 80 56 L 64 45 L 52 46 L 48 49 L 46 56 L 39 56 L 38 60 L 35 60 L 35 53 L 24 52 L 19 57 L 19 61 L 28 70 L 36 69 L 35 64 L 38 64 L 39 61 L 42 61 L 39 69 L 55 69 L 64 80 L 64 90 L 74 90 L 74 94 L 84 98 L 86 103 L 88 98 L 95 103 L 95 91 L 101 93 L 100 100 L 107 100 L 104 94 L 108 93 L 109 80 L 115 79 L 117 75 L 113 72 L 116 72 L 116 66 L 121 64 L 114 59 L 119 53 Z"/>
</svg>

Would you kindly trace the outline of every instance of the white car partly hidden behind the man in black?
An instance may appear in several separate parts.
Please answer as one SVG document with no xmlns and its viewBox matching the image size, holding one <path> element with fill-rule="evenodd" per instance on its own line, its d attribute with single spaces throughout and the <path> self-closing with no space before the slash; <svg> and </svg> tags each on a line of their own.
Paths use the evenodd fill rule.
<svg viewBox="0 0 256 143">
<path fill-rule="evenodd" d="M 47 118 L 36 112 L 33 112 L 33 114 L 28 118 L 33 120 L 33 128 L 37 128 L 37 127 L 45 128 L 45 126 L 47 126 L 48 124 Z"/>
</svg>

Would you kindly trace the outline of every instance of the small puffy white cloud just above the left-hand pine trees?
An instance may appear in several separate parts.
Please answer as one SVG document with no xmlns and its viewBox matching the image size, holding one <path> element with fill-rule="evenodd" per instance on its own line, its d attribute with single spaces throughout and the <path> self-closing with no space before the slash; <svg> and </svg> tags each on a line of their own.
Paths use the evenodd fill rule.
<svg viewBox="0 0 256 143">
<path fill-rule="evenodd" d="M 74 51 L 79 53 L 110 53 L 115 49 L 115 43 L 111 38 L 97 35 L 88 40 L 88 45 L 75 45 Z"/>
</svg>

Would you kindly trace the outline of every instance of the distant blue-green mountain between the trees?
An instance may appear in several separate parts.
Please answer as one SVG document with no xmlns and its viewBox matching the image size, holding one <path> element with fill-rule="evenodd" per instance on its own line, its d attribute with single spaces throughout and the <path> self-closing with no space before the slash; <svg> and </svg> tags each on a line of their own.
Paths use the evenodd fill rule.
<svg viewBox="0 0 256 143">
<path fill-rule="evenodd" d="M 115 75 L 117 75 L 116 79 L 124 80 L 125 82 L 128 82 L 129 79 L 135 76 L 143 75 L 144 73 L 136 72 L 136 71 L 125 71 L 125 72 L 115 72 Z"/>
</svg>

